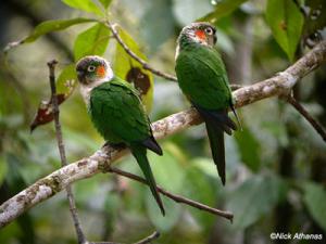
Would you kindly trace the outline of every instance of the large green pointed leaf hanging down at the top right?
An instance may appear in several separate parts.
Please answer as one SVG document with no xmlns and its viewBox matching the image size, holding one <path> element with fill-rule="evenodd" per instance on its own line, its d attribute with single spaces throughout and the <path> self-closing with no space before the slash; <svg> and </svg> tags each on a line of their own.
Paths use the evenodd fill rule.
<svg viewBox="0 0 326 244">
<path fill-rule="evenodd" d="M 304 22 L 296 3 L 292 0 L 268 0 L 266 22 L 277 43 L 293 61 Z"/>
</svg>

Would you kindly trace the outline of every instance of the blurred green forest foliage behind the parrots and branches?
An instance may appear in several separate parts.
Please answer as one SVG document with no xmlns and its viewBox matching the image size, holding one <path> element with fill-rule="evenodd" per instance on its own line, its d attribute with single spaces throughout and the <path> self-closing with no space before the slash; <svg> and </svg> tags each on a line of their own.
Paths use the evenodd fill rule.
<svg viewBox="0 0 326 244">
<path fill-rule="evenodd" d="M 250 85 L 284 70 L 316 38 L 325 37 L 323 0 L 95 1 L 97 5 L 111 3 L 105 16 L 96 15 L 98 11 L 89 5 L 83 11 L 64 2 L 78 5 L 90 1 L 2 0 L 0 48 L 29 35 L 47 20 L 109 17 L 130 35 L 133 44 L 138 43 L 139 55 L 147 56 L 155 68 L 174 74 L 176 38 L 183 26 L 201 18 L 217 27 L 217 46 L 230 82 Z M 277 36 L 274 21 L 279 16 L 286 16 L 288 29 L 294 28 L 286 37 Z M 53 124 L 33 133 L 29 125 L 40 101 L 50 94 L 47 62 L 59 61 L 58 75 L 73 64 L 74 57 L 85 54 L 80 54 L 85 51 L 83 44 L 79 51 L 76 48 L 76 39 L 83 42 L 83 35 L 85 35 L 93 25 L 85 23 L 50 33 L 10 50 L 5 56 L 1 54 L 0 203 L 60 167 Z M 103 56 L 113 62 L 116 70 L 117 66 L 130 65 L 130 59 L 118 60 L 117 56 L 126 54 L 118 50 L 110 33 L 105 35 L 104 43 L 99 46 L 103 47 Z M 87 40 L 86 46 L 96 44 Z M 175 82 L 156 76 L 153 80 L 153 121 L 189 107 Z M 294 87 L 294 97 L 323 125 L 325 94 L 325 65 Z M 90 124 L 78 89 L 60 107 L 68 162 L 91 155 L 103 140 Z M 73 184 L 87 239 L 133 243 L 156 229 L 162 235 L 153 243 L 162 244 L 294 243 L 272 241 L 272 232 L 323 234 L 321 243 L 325 243 L 325 141 L 291 105 L 278 98 L 240 108 L 239 114 L 243 131 L 226 137 L 225 188 L 217 178 L 202 125 L 160 141 L 163 157 L 149 153 L 160 185 L 233 211 L 233 223 L 164 196 L 167 215 L 163 218 L 146 187 L 100 174 Z M 116 166 L 140 175 L 134 158 L 124 157 Z M 35 206 L 1 229 L 0 243 L 76 243 L 65 193 Z"/>
</svg>

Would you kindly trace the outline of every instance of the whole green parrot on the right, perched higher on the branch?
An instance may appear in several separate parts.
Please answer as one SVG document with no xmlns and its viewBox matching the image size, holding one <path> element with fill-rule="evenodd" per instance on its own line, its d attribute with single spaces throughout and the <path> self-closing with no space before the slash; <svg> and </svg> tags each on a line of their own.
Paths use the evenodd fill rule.
<svg viewBox="0 0 326 244">
<path fill-rule="evenodd" d="M 215 33 L 209 23 L 184 27 L 177 40 L 175 70 L 183 93 L 205 123 L 213 160 L 225 184 L 224 132 L 231 134 L 237 129 L 227 115 L 228 107 L 238 116 L 224 63 L 214 47 Z"/>
</svg>

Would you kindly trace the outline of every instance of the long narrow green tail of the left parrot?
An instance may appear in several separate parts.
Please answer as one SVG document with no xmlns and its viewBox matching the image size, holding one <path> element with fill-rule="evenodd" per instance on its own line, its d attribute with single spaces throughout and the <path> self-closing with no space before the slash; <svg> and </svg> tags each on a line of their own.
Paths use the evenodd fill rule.
<svg viewBox="0 0 326 244">
<path fill-rule="evenodd" d="M 137 163 L 140 167 L 140 169 L 142 170 L 142 174 L 150 187 L 150 190 L 161 209 L 161 213 L 164 216 L 165 215 L 164 206 L 163 206 L 162 200 L 161 200 L 160 194 L 156 189 L 156 182 L 155 182 L 153 172 L 151 170 L 151 166 L 150 166 L 147 155 L 146 155 L 147 149 L 141 144 L 131 144 L 130 151 L 131 151 L 133 155 L 135 156 L 135 158 L 137 159 Z"/>
</svg>

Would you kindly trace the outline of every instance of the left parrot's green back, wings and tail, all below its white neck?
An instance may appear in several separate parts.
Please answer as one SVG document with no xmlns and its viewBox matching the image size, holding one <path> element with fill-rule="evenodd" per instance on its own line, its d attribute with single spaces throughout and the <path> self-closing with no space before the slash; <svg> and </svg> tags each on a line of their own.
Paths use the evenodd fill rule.
<svg viewBox="0 0 326 244">
<path fill-rule="evenodd" d="M 93 88 L 89 114 L 109 143 L 124 143 L 130 149 L 164 215 L 163 203 L 146 155 L 147 149 L 162 155 L 162 149 L 152 136 L 149 118 L 136 89 L 116 77 Z"/>
</svg>

